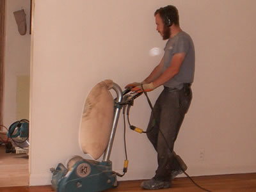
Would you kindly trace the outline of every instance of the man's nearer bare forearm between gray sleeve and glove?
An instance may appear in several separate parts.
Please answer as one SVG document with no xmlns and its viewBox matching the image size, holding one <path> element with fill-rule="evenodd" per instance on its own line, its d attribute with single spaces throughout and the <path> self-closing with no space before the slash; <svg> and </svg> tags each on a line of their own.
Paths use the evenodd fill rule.
<svg viewBox="0 0 256 192">
<path fill-rule="evenodd" d="M 176 76 L 180 71 L 180 66 L 184 61 L 184 58 L 185 58 L 185 52 L 179 52 L 174 54 L 170 67 L 168 67 L 161 76 L 159 76 L 156 80 L 153 81 L 154 87 L 156 88 L 164 84 L 166 81 L 172 79 L 172 77 Z"/>
</svg>

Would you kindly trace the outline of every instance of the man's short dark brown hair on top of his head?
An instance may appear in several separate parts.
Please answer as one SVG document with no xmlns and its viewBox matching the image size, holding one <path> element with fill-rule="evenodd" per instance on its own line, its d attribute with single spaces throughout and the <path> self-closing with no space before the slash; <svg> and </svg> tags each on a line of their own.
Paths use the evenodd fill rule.
<svg viewBox="0 0 256 192">
<path fill-rule="evenodd" d="M 164 25 L 166 26 L 171 26 L 173 23 L 177 26 L 180 25 L 179 12 L 177 8 L 173 5 L 168 5 L 168 6 L 159 8 L 154 13 L 154 16 L 156 16 L 157 14 L 160 15 L 161 19 L 164 22 Z"/>
</svg>

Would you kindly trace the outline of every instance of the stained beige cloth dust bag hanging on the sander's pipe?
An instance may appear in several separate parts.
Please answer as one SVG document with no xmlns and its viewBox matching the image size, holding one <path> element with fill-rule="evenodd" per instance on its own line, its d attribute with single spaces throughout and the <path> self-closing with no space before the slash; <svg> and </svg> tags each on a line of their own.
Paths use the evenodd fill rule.
<svg viewBox="0 0 256 192">
<path fill-rule="evenodd" d="M 114 101 L 109 90 L 113 81 L 105 80 L 93 87 L 84 104 L 79 144 L 84 153 L 99 159 L 104 153 L 113 126 Z"/>
</svg>

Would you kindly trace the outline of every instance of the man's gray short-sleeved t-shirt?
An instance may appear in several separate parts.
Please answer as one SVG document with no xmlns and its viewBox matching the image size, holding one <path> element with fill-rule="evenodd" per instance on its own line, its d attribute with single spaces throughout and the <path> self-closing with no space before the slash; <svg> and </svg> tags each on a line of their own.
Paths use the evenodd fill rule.
<svg viewBox="0 0 256 192">
<path fill-rule="evenodd" d="M 180 66 L 179 74 L 164 83 L 169 88 L 182 88 L 183 83 L 192 83 L 195 74 L 195 47 L 191 37 L 184 31 L 170 38 L 164 47 L 164 64 L 162 72 L 170 67 L 173 55 L 185 52 L 185 58 Z"/>
</svg>

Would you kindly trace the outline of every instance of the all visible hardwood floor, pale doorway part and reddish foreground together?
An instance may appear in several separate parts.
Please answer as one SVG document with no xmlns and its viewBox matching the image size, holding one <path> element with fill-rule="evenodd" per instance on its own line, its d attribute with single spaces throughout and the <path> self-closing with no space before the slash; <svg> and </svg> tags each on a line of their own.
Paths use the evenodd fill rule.
<svg viewBox="0 0 256 192">
<path fill-rule="evenodd" d="M 255 192 L 256 173 L 235 174 L 235 175 L 214 175 L 206 177 L 193 177 L 193 180 L 202 188 L 210 191 L 223 192 Z M 106 192 L 129 192 L 148 191 L 140 188 L 141 180 L 129 180 L 119 182 L 118 188 L 108 189 Z M 24 154 L 6 154 L 3 145 L 0 146 L 0 192 L 50 192 L 54 191 L 51 186 L 28 186 L 28 156 Z M 12 186 L 12 187 L 7 187 Z M 18 187 L 16 187 L 18 186 Z M 186 177 L 174 179 L 172 188 L 149 190 L 154 191 L 203 191 L 199 189 Z M 72 192 L 72 191 L 70 191 Z"/>
</svg>

